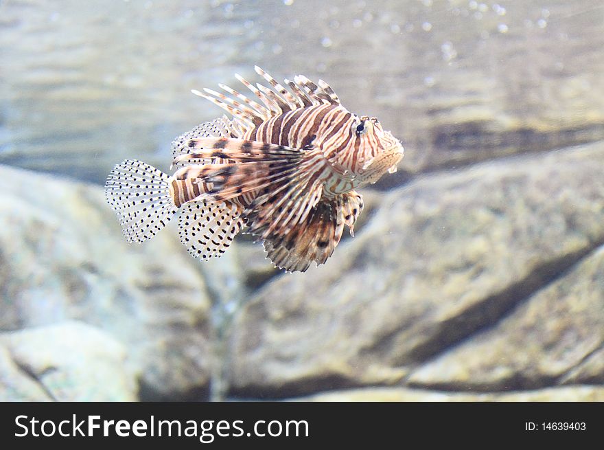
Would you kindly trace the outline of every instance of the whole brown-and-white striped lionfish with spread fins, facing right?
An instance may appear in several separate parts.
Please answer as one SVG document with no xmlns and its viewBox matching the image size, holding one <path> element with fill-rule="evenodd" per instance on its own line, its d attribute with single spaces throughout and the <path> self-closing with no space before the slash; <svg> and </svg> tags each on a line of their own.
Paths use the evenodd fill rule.
<svg viewBox="0 0 604 450">
<path fill-rule="evenodd" d="M 237 80 L 259 102 L 192 91 L 226 110 L 172 142 L 174 175 L 136 159 L 115 166 L 105 194 L 128 242 L 152 238 L 178 214 L 181 242 L 202 260 L 221 256 L 244 225 L 275 266 L 325 263 L 363 209 L 356 188 L 393 173 L 403 147 L 375 117 L 345 109 L 323 80 L 285 80 L 259 67 L 272 89 Z"/>
</svg>

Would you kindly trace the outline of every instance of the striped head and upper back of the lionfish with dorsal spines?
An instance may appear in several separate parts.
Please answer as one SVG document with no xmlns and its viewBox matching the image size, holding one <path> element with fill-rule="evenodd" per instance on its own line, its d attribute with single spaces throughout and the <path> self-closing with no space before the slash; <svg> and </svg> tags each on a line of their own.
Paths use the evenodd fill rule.
<svg viewBox="0 0 604 450">
<path fill-rule="evenodd" d="M 264 70 L 255 69 L 275 91 L 262 85 L 253 87 L 240 76 L 237 79 L 251 89 L 264 106 L 224 85 L 220 85 L 224 91 L 241 100 L 237 103 L 240 108 L 236 108 L 232 100 L 225 100 L 226 95 L 209 89 L 205 90 L 209 95 L 196 91 L 233 114 L 233 121 L 242 129 L 237 137 L 300 149 L 321 148 L 331 169 L 325 175 L 328 195 L 348 192 L 374 182 L 388 169 L 395 170 L 403 148 L 391 133 L 382 129 L 375 117 L 358 117 L 347 111 L 323 80 L 316 85 L 305 76 L 296 76 L 294 82 L 286 80 L 293 91 L 290 93 Z M 360 124 L 366 128 L 362 134 L 357 131 Z M 388 166 L 384 167 L 385 164 Z"/>
</svg>

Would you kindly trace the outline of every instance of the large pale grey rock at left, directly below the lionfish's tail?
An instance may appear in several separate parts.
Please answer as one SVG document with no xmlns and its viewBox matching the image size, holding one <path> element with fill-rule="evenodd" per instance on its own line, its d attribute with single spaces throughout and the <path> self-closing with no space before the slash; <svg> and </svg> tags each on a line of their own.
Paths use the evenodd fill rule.
<svg viewBox="0 0 604 450">
<path fill-rule="evenodd" d="M 1 329 L 79 319 L 128 348 L 143 398 L 207 389 L 211 297 L 176 229 L 128 245 L 99 186 L 5 166 L 0 208 Z"/>
</svg>

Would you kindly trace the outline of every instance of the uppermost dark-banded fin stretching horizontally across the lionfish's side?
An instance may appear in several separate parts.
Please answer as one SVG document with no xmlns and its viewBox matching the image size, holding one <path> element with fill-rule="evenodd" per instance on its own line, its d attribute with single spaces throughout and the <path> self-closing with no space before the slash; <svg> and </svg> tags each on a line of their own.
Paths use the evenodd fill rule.
<svg viewBox="0 0 604 450">
<path fill-rule="evenodd" d="M 211 161 L 230 159 L 237 162 L 275 161 L 297 159 L 303 150 L 266 142 L 228 137 L 198 137 L 185 142 L 188 153 L 178 155 L 174 164 L 187 164 L 191 159 Z"/>
</svg>

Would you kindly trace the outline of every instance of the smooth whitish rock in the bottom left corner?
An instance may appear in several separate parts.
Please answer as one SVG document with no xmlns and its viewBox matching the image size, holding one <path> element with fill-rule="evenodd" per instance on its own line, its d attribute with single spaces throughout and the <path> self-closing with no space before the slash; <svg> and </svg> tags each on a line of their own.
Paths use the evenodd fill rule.
<svg viewBox="0 0 604 450">
<path fill-rule="evenodd" d="M 0 334 L 2 401 L 134 401 L 126 348 L 80 322 Z"/>
</svg>

